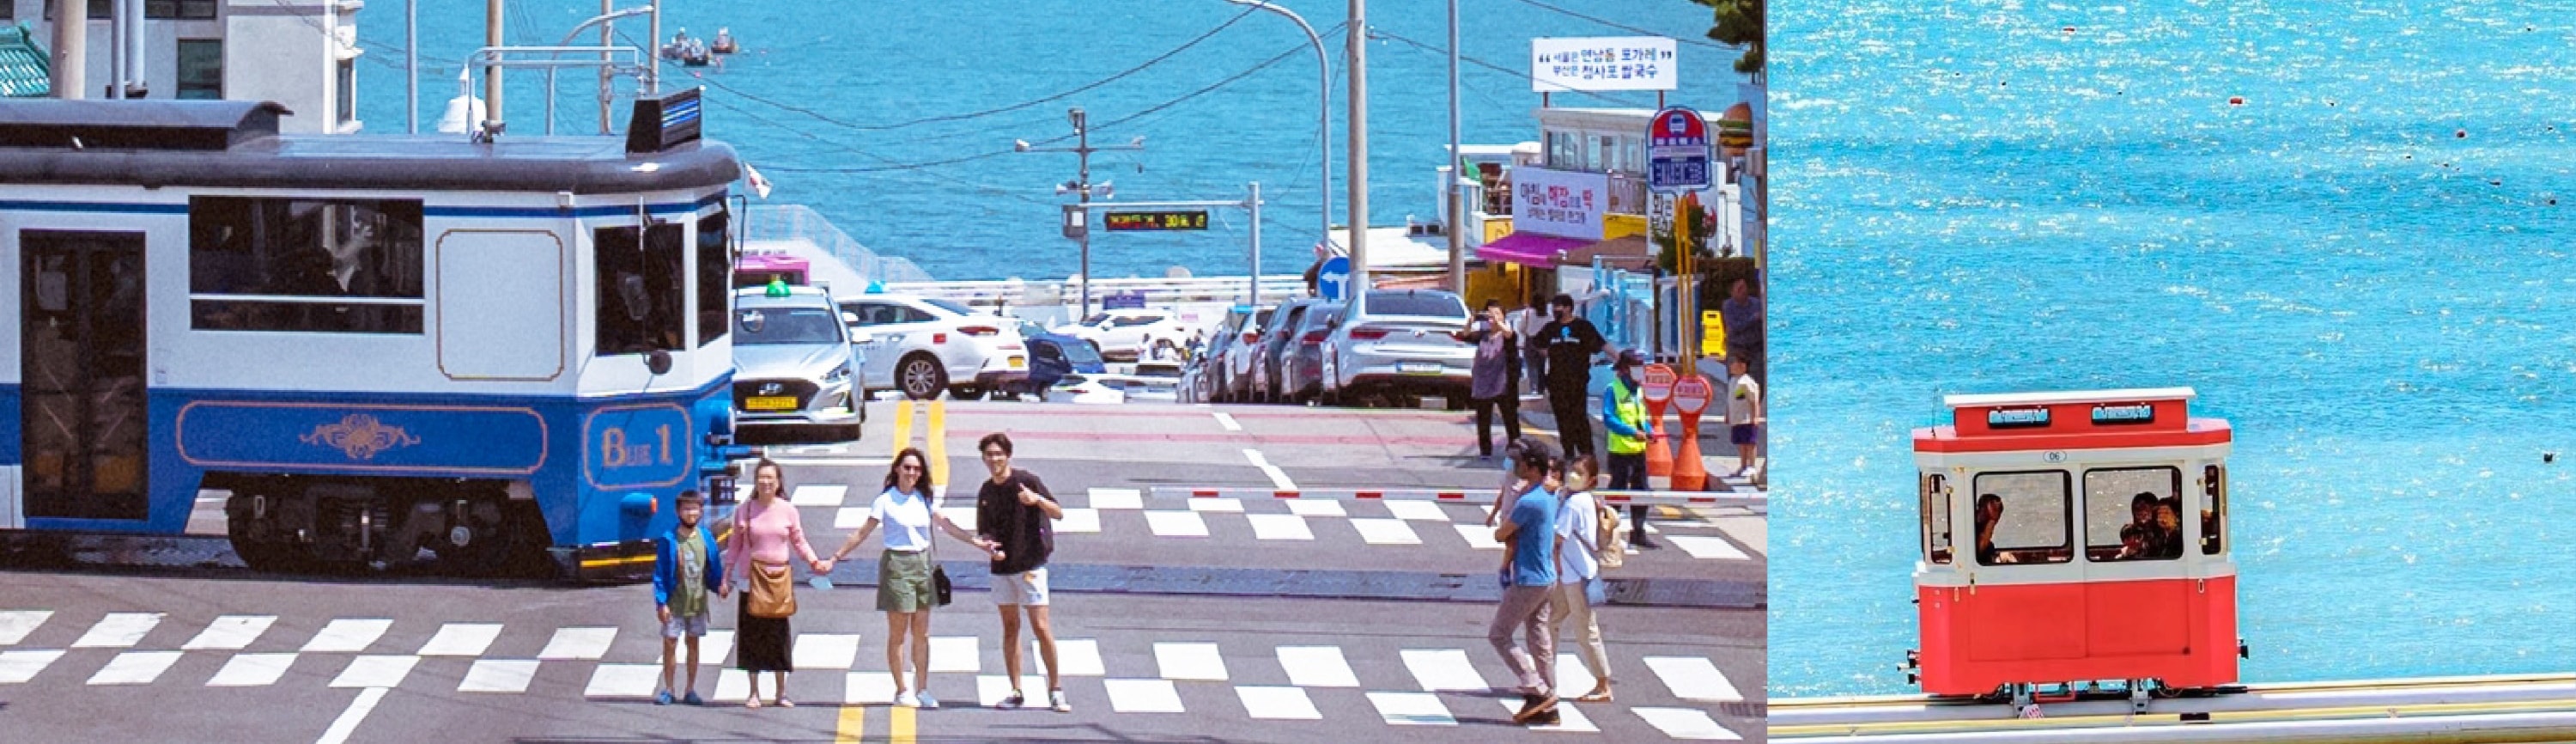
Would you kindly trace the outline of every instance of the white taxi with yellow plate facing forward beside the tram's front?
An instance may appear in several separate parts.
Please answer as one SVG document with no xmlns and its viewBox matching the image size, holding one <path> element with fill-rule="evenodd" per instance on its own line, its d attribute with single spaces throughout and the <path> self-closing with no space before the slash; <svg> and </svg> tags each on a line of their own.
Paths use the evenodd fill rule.
<svg viewBox="0 0 2576 744">
<path fill-rule="evenodd" d="M 855 394 L 863 360 L 832 293 L 811 286 L 734 291 L 734 425 L 747 440 L 845 443 L 868 422 Z"/>
</svg>

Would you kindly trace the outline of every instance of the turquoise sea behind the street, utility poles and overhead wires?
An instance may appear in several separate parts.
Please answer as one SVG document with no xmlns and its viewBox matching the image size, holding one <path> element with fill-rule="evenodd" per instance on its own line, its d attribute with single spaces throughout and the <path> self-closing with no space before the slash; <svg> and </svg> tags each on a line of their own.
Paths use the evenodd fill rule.
<svg viewBox="0 0 2576 744">
<path fill-rule="evenodd" d="M 456 95 L 456 62 L 482 46 L 482 3 L 422 0 L 422 129 L 435 129 Z M 618 3 L 634 5 L 634 3 Z M 1334 147 L 1347 136 L 1340 118 L 1345 90 L 1342 33 L 1347 3 L 1280 3 L 1324 33 L 1334 54 Z M 1551 0 L 1548 5 L 1649 28 L 1662 36 L 1703 39 L 1708 8 L 1687 0 Z M 556 44 L 574 23 L 598 15 L 595 0 L 513 0 L 510 44 Z M 1293 23 L 1255 13 L 1126 80 L 1010 113 L 881 129 L 927 116 L 974 113 L 1072 90 L 1164 54 L 1208 28 L 1242 15 L 1221 0 L 1154 3 L 711 3 L 665 5 L 665 39 L 685 28 L 708 39 L 729 26 L 744 54 L 708 72 L 708 131 L 732 142 L 778 191 L 773 203 L 806 203 L 863 245 L 920 263 L 938 278 L 1061 278 L 1077 268 L 1074 242 L 1056 221 L 1054 185 L 1074 178 L 1072 154 L 997 154 L 1012 139 L 1043 142 L 1069 134 L 1064 108 L 1082 106 L 1095 124 L 1095 144 L 1146 136 L 1144 152 L 1092 160 L 1092 178 L 1115 183 L 1121 201 L 1242 198 L 1260 180 L 1265 270 L 1296 273 L 1316 239 L 1316 70 L 1306 36 Z M 358 13 L 368 62 L 361 64 L 361 118 L 368 131 L 402 131 L 402 18 L 399 0 L 368 3 Z M 1512 72 L 1461 64 L 1461 111 L 1468 144 L 1535 142 L 1538 95 L 1525 77 L 1530 36 L 1628 36 L 1631 31 L 1561 15 L 1520 0 L 1461 0 L 1463 54 Z M 1448 144 L 1448 15 L 1445 3 L 1376 3 L 1370 26 L 1430 44 L 1414 49 L 1381 39 L 1368 49 L 1370 88 L 1370 224 L 1404 224 L 1406 214 L 1437 214 L 1437 178 Z M 641 21 L 618 31 L 644 41 Z M 585 33 L 580 44 L 598 44 Z M 1242 82 L 1110 124 L 1193 90 L 1260 67 Z M 1672 103 L 1726 108 L 1736 100 L 1734 51 L 1680 49 L 1682 90 Z M 559 108 L 562 131 L 598 124 L 592 72 L 567 72 Z M 690 85 L 672 67 L 667 85 Z M 479 95 L 479 88 L 477 88 Z M 510 131 L 544 131 L 541 75 L 513 72 L 505 98 Z M 1654 106 L 1651 93 L 1610 98 L 1558 95 L 1556 106 Z M 799 113 L 791 108 L 804 108 Z M 618 126 L 623 126 L 623 108 Z M 871 129 L 873 126 L 873 129 Z M 1064 142 L 1072 144 L 1072 142 Z M 989 157 L 979 157 L 989 154 Z M 945 167 L 904 170 L 940 160 L 976 157 Z M 1347 201 L 1342 160 L 1334 160 L 1334 206 Z M 868 172 L 799 172 L 868 170 Z M 1239 275 L 1247 268 L 1247 219 L 1218 211 L 1206 234 L 1118 234 L 1092 242 L 1097 275 L 1162 275 L 1188 265 L 1200 275 Z M 757 229 L 757 224 L 755 224 Z"/>
</svg>

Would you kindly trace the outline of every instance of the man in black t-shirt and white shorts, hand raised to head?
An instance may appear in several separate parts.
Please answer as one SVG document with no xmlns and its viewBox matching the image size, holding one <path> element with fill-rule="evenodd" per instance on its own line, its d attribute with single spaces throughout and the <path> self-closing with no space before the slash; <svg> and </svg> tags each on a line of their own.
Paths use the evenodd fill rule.
<svg viewBox="0 0 2576 744">
<path fill-rule="evenodd" d="M 992 602 L 1002 608 L 1002 672 L 1010 677 L 1010 698 L 999 708 L 1020 708 L 1020 608 L 1028 608 L 1028 628 L 1038 636 L 1038 659 L 1046 662 L 1046 703 L 1056 713 L 1072 713 L 1064 700 L 1064 682 L 1056 677 L 1056 628 L 1046 615 L 1046 556 L 1056 551 L 1056 520 L 1064 507 L 1046 492 L 1038 476 L 1010 466 L 1010 435 L 989 432 L 976 443 L 984 469 L 992 471 L 974 497 L 974 528 L 997 543 L 992 553 Z"/>
</svg>

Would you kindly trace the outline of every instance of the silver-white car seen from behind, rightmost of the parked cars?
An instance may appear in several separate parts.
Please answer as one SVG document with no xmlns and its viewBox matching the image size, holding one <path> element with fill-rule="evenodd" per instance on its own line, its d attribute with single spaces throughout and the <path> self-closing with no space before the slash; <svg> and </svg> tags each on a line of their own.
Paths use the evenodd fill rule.
<svg viewBox="0 0 2576 744">
<path fill-rule="evenodd" d="M 1466 407 L 1476 345 L 1466 301 L 1432 288 L 1373 288 L 1358 296 L 1324 337 L 1324 402 L 1437 394 Z"/>
</svg>

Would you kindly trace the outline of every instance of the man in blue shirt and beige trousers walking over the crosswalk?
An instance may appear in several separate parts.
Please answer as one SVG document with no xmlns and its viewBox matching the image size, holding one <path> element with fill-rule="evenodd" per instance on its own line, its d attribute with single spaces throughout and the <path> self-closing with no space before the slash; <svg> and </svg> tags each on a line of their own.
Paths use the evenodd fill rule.
<svg viewBox="0 0 2576 744">
<path fill-rule="evenodd" d="M 1520 713 L 1512 723 L 1556 721 L 1556 623 L 1548 618 L 1548 592 L 1556 587 L 1556 497 L 1548 494 L 1548 474 L 1556 471 L 1556 448 L 1522 438 L 1512 443 L 1510 520 L 1494 528 L 1502 543 L 1502 605 L 1486 641 L 1502 654 L 1502 664 L 1520 677 Z M 1512 628 L 1522 628 L 1530 646 L 1512 644 Z"/>
</svg>

